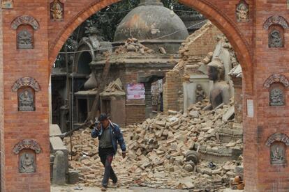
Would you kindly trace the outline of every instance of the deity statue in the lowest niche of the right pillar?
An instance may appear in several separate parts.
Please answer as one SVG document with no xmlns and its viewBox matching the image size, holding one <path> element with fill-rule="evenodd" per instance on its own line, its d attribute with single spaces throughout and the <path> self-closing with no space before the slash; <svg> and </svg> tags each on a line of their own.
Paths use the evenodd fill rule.
<svg viewBox="0 0 289 192">
<path fill-rule="evenodd" d="M 271 164 L 283 164 L 286 163 L 285 145 L 283 143 L 272 143 L 270 147 Z"/>
</svg>

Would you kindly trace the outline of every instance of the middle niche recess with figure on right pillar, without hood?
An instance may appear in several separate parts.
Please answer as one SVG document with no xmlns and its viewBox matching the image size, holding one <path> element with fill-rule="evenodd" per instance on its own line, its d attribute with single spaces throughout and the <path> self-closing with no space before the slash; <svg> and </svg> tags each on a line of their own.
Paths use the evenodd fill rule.
<svg viewBox="0 0 289 192">
<path fill-rule="evenodd" d="M 274 83 L 269 89 L 270 106 L 285 105 L 285 88 L 281 83 Z"/>
</svg>

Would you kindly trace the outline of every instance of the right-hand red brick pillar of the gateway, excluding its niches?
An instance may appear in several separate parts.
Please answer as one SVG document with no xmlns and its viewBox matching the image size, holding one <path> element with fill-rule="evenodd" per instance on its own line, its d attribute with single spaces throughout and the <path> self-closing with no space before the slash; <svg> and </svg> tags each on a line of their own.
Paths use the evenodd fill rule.
<svg viewBox="0 0 289 192">
<path fill-rule="evenodd" d="M 263 24 L 268 17 L 281 15 L 288 19 L 286 1 L 254 1 L 255 37 L 254 42 L 254 95 L 255 118 L 253 126 L 245 129 L 245 163 L 247 183 L 258 191 L 289 191 L 289 167 L 271 166 L 269 147 L 265 145 L 267 138 L 276 132 L 289 135 L 289 90 L 286 88 L 286 106 L 269 106 L 269 89 L 264 88 L 265 80 L 274 73 L 284 74 L 289 78 L 288 66 L 288 29 L 285 30 L 285 47 L 269 48 L 268 32 Z M 288 21 L 288 20 L 287 20 Z M 247 123 L 249 123 L 247 121 Z M 248 125 L 248 124 L 246 124 Z M 288 147 L 287 156 L 288 159 Z M 288 160 L 287 160 L 288 161 Z M 254 168 L 253 166 L 257 166 Z M 250 168 L 252 168 L 250 170 Z M 251 176 L 253 173 L 253 176 Z M 257 176 L 257 177 L 255 177 Z M 248 187 L 247 189 L 252 189 Z"/>
</svg>

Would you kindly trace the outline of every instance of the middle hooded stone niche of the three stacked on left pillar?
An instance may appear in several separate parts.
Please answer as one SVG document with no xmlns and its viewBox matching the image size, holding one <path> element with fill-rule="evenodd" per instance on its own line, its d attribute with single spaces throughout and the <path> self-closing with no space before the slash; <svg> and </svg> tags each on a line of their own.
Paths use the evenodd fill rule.
<svg viewBox="0 0 289 192">
<path fill-rule="evenodd" d="M 18 79 L 12 90 L 17 92 L 18 111 L 35 111 L 35 92 L 40 90 L 38 82 L 31 77 Z"/>
</svg>

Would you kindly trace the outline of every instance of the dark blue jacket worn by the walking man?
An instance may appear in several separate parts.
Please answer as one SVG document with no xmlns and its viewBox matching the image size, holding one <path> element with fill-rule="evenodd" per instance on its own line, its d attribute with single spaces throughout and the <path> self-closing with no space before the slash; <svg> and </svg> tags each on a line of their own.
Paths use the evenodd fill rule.
<svg viewBox="0 0 289 192">
<path fill-rule="evenodd" d="M 98 139 L 101 139 L 101 136 L 103 134 L 103 126 L 101 126 L 101 129 L 98 131 L 96 128 L 97 125 L 95 125 L 95 128 L 91 131 L 91 137 Z M 124 136 L 121 133 L 121 130 L 119 128 L 119 125 L 113 123 L 110 121 L 110 137 L 112 138 L 112 147 L 114 149 L 114 155 L 117 154 L 117 143 L 119 143 L 119 146 L 121 147 L 121 151 L 126 151 L 126 143 L 124 143 Z"/>
</svg>

